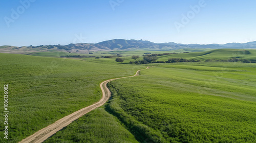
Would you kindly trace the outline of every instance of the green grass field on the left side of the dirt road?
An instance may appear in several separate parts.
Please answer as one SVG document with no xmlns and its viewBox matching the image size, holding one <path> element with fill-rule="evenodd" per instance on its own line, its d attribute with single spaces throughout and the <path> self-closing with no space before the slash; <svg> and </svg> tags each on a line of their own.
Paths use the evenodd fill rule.
<svg viewBox="0 0 256 143">
<path fill-rule="evenodd" d="M 9 142 L 97 102 L 100 82 L 145 67 L 16 54 L 0 54 L 0 65 L 0 83 L 9 85 Z"/>
</svg>

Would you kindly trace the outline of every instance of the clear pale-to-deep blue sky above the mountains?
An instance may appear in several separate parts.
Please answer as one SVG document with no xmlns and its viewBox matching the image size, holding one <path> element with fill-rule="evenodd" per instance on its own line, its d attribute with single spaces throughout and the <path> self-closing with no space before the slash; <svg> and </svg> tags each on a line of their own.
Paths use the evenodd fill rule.
<svg viewBox="0 0 256 143">
<path fill-rule="evenodd" d="M 245 43 L 256 41 L 255 8 L 255 0 L 2 0 L 0 45 Z"/>
</svg>

